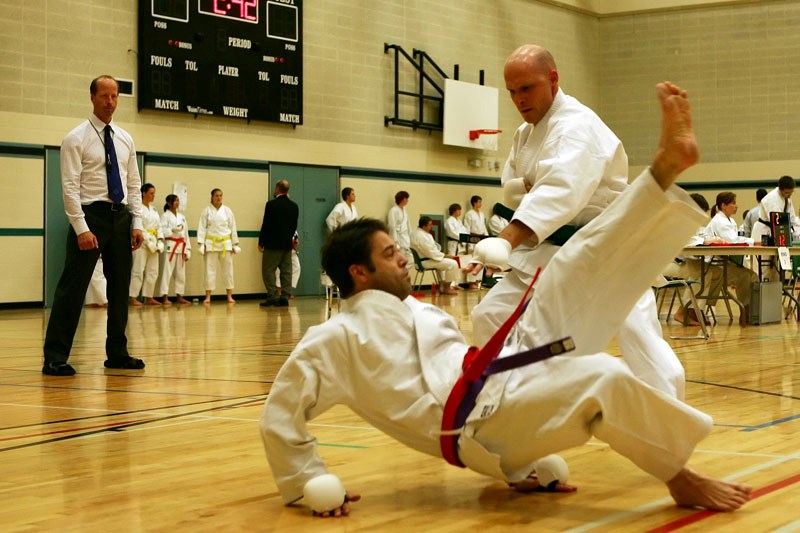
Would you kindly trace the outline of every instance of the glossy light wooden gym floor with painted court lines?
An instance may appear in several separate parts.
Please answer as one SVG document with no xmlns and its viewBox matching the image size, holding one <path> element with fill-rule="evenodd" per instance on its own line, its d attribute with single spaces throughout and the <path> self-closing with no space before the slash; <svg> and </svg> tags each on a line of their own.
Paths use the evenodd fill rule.
<svg viewBox="0 0 800 533">
<path fill-rule="evenodd" d="M 476 292 L 426 296 L 469 338 Z M 105 311 L 86 309 L 72 378 L 40 373 L 47 311 L 0 311 L 0 529 L 800 531 L 798 323 L 740 328 L 719 318 L 708 341 L 670 343 L 686 367 L 687 402 L 715 420 L 691 464 L 751 484 L 743 509 L 677 508 L 662 484 L 598 441 L 562 454 L 578 492 L 521 495 L 336 408 L 313 431 L 362 500 L 332 521 L 282 506 L 257 425 L 281 363 L 325 319 L 322 298 L 131 309 L 130 347 L 144 371 L 103 368 Z M 664 325 L 665 336 L 682 332 Z"/>
</svg>

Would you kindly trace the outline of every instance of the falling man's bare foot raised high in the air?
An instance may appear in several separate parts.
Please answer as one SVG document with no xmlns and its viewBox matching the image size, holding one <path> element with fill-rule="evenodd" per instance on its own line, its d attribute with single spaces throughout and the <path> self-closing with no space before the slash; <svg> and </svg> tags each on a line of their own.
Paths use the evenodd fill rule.
<svg viewBox="0 0 800 533">
<path fill-rule="evenodd" d="M 657 87 L 661 103 L 661 140 L 650 172 L 666 190 L 681 172 L 697 163 L 700 151 L 686 91 L 668 81 Z"/>
</svg>

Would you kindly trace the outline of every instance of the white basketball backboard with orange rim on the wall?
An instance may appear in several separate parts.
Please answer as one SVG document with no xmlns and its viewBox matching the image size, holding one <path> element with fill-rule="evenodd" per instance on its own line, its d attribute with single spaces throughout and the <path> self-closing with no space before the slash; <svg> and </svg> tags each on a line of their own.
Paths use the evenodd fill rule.
<svg viewBox="0 0 800 533">
<path fill-rule="evenodd" d="M 445 79 L 444 144 L 497 150 L 498 98 L 497 87 Z"/>
</svg>

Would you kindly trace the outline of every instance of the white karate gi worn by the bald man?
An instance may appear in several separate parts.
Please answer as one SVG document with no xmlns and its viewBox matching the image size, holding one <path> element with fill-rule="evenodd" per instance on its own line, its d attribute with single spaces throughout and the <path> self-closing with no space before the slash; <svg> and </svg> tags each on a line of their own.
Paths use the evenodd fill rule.
<svg viewBox="0 0 800 533">
<path fill-rule="evenodd" d="M 511 252 L 511 271 L 472 312 L 473 342 L 481 345 L 491 337 L 517 305 L 536 269 L 546 266 L 558 251 L 545 239 L 561 226 L 580 227 L 594 219 L 625 190 L 627 175 L 628 157 L 617 136 L 591 109 L 560 89 L 535 127 L 525 123 L 517 129 L 502 182 L 506 188 L 523 180 L 531 185 L 514 220 L 532 229 L 540 244 L 522 243 Z M 683 366 L 663 338 L 653 291 L 648 288 L 641 298 L 617 335 L 622 355 L 631 368 L 649 369 L 646 374 L 637 372 L 648 384 L 683 398 Z"/>
</svg>

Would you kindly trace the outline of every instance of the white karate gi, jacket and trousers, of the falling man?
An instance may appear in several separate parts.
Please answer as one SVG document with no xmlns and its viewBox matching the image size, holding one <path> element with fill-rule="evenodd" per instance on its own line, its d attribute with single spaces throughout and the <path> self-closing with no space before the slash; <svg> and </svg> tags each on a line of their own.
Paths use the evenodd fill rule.
<svg viewBox="0 0 800 533">
<path fill-rule="evenodd" d="M 710 417 L 598 352 L 702 220 L 683 191 L 664 194 L 642 178 L 553 258 L 518 325 L 519 345 L 503 355 L 564 336 L 576 351 L 487 379 L 459 438 L 469 468 L 520 481 L 537 458 L 594 435 L 662 481 L 680 471 L 710 431 Z M 307 423 L 336 404 L 441 457 L 443 405 L 466 348 L 444 311 L 374 290 L 309 328 L 278 373 L 260 421 L 283 501 L 296 501 L 308 480 L 327 473 Z"/>
</svg>

